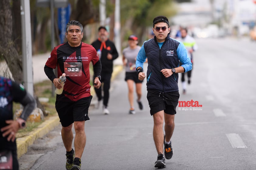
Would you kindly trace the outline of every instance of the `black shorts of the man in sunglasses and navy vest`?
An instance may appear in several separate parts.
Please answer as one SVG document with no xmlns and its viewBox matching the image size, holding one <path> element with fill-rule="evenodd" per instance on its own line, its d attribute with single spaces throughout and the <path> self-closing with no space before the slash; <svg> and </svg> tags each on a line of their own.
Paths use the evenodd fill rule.
<svg viewBox="0 0 256 170">
<path fill-rule="evenodd" d="M 150 115 L 164 110 L 169 115 L 176 114 L 176 107 L 179 101 L 179 92 L 160 93 L 154 90 L 147 90 L 147 100 L 150 107 Z"/>
</svg>

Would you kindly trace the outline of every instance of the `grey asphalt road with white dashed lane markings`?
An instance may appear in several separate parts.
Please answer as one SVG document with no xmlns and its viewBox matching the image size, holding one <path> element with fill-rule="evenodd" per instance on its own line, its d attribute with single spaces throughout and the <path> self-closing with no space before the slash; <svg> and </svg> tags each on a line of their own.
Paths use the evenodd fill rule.
<svg viewBox="0 0 256 170">
<path fill-rule="evenodd" d="M 256 169 L 255 42 L 247 39 L 196 39 L 192 83 L 180 101 L 202 107 L 177 107 L 172 141 L 172 170 Z M 112 82 L 109 111 L 90 109 L 83 170 L 150 170 L 157 152 L 153 118 L 143 83 L 144 110 L 129 115 L 124 71 Z M 95 99 L 95 97 L 94 97 Z M 136 100 L 136 97 L 135 97 Z M 58 126 L 36 140 L 19 159 L 21 170 L 64 170 L 65 149 Z"/>
</svg>

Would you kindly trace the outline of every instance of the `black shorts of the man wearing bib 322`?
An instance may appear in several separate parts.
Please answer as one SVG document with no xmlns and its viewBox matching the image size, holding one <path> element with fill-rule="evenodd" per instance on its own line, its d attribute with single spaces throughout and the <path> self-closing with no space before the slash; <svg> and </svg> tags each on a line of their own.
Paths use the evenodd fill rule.
<svg viewBox="0 0 256 170">
<path fill-rule="evenodd" d="M 90 120 L 88 109 L 92 101 L 92 96 L 81 98 L 76 102 L 55 102 L 61 125 L 67 127 L 77 121 Z"/>
</svg>

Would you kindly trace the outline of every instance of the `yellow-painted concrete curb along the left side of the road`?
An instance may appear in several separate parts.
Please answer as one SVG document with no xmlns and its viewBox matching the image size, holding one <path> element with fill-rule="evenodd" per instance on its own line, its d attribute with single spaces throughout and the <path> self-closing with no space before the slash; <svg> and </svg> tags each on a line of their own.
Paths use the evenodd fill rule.
<svg viewBox="0 0 256 170">
<path fill-rule="evenodd" d="M 119 72 L 122 71 L 122 69 L 122 65 L 114 66 L 111 81 L 113 81 L 116 78 L 116 76 L 119 74 Z M 91 94 L 95 94 L 94 88 L 91 88 Z M 52 116 L 48 120 L 44 121 L 37 128 L 35 128 L 27 136 L 16 138 L 18 159 L 28 151 L 29 145 L 32 145 L 36 139 L 43 137 L 48 132 L 53 130 L 57 125 L 60 124 L 61 123 L 59 116 Z"/>
</svg>

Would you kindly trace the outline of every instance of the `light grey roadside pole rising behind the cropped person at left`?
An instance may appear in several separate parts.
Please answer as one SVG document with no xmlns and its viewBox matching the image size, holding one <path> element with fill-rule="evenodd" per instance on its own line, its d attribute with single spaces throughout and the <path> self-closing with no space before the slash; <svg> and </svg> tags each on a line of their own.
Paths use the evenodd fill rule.
<svg viewBox="0 0 256 170">
<path fill-rule="evenodd" d="M 26 91 L 34 96 L 33 69 L 32 69 L 32 40 L 30 23 L 30 4 L 27 0 L 21 0 L 21 25 L 22 25 L 22 70 Z"/>
</svg>

